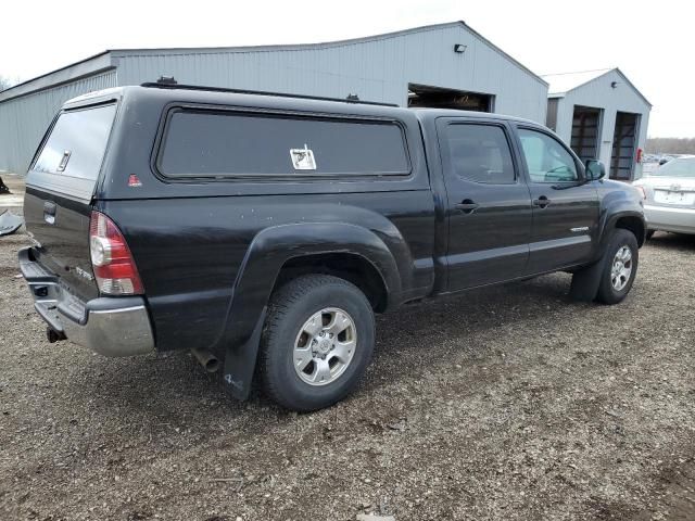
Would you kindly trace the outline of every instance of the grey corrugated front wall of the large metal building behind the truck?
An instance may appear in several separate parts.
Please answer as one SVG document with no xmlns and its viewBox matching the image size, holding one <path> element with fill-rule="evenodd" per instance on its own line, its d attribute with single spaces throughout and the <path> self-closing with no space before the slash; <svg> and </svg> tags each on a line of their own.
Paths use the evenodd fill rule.
<svg viewBox="0 0 695 521">
<path fill-rule="evenodd" d="M 454 45 L 467 46 L 454 52 Z M 130 51 L 121 85 L 180 84 L 270 90 L 405 105 L 407 84 L 495 96 L 495 110 L 545 123 L 547 87 L 463 25 L 308 49 Z"/>
</svg>

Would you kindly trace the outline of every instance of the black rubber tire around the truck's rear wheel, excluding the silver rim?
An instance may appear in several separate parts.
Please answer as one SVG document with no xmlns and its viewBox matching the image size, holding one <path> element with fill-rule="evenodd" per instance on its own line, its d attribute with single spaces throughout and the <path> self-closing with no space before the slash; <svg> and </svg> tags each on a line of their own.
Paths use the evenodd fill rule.
<svg viewBox="0 0 695 521">
<path fill-rule="evenodd" d="M 336 380 L 312 385 L 294 369 L 294 343 L 312 315 L 327 308 L 349 314 L 356 330 L 356 343 L 352 359 Z M 306 412 L 328 407 L 344 398 L 359 382 L 371 360 L 374 344 L 374 312 L 357 287 L 328 275 L 299 277 L 270 298 L 258 353 L 262 387 L 268 397 L 291 410 Z"/>
</svg>

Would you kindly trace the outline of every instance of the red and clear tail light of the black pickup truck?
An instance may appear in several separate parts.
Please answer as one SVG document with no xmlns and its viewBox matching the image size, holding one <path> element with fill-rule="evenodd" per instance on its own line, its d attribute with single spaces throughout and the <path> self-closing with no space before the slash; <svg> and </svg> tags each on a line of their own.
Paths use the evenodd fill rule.
<svg viewBox="0 0 695 521">
<path fill-rule="evenodd" d="M 113 220 L 99 212 L 91 213 L 89 253 L 102 293 L 137 295 L 143 292 L 138 268 L 123 233 Z"/>
</svg>

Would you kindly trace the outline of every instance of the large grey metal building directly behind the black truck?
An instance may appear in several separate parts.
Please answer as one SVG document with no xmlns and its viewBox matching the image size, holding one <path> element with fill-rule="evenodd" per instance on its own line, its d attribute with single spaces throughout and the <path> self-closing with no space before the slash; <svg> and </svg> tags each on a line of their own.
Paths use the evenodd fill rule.
<svg viewBox="0 0 695 521">
<path fill-rule="evenodd" d="M 328 43 L 110 50 L 0 92 L 0 170 L 24 173 L 61 104 L 179 84 L 494 111 L 545 122 L 547 84 L 464 22 Z"/>
</svg>

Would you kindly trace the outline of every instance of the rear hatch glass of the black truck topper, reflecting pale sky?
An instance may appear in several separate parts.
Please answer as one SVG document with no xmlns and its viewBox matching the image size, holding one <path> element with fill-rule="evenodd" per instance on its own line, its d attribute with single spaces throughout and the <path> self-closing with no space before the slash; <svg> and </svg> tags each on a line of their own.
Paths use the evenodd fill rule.
<svg viewBox="0 0 695 521">
<path fill-rule="evenodd" d="M 115 113 L 111 104 L 61 114 L 33 169 L 97 180 Z"/>
</svg>

